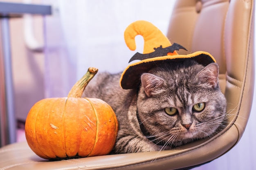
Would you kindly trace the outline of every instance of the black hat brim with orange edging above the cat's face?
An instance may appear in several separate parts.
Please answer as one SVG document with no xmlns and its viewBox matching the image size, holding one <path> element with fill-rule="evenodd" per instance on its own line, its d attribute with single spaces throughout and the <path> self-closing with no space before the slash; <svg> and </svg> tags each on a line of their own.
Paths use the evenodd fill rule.
<svg viewBox="0 0 256 170">
<path fill-rule="evenodd" d="M 147 73 L 151 68 L 163 62 L 180 62 L 186 58 L 193 58 L 196 62 L 202 64 L 203 66 L 216 62 L 213 56 L 205 51 L 197 51 L 188 55 L 166 55 L 148 58 L 130 64 L 121 75 L 120 86 L 123 89 L 137 88 L 142 73 Z"/>
</svg>

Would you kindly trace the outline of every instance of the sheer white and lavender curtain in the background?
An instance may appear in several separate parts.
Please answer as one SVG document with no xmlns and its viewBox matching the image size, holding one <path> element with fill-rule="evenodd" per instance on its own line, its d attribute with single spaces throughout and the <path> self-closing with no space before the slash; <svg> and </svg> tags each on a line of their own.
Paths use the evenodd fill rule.
<svg viewBox="0 0 256 170">
<path fill-rule="evenodd" d="M 65 97 L 88 67 L 123 71 L 135 53 L 123 38 L 128 24 L 147 20 L 167 33 L 175 0 L 44 0 L 54 7 L 47 18 L 46 97 Z M 136 38 L 142 53 L 143 40 Z M 256 88 L 255 88 L 256 89 Z M 255 170 L 256 103 L 240 142 L 227 154 L 195 170 Z"/>
</svg>

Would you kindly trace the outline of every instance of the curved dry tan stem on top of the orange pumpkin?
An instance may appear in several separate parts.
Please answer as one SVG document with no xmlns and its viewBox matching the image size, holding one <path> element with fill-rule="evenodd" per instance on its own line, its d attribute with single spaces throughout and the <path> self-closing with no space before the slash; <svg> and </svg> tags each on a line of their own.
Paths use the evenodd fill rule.
<svg viewBox="0 0 256 170">
<path fill-rule="evenodd" d="M 71 88 L 67 97 L 81 97 L 85 87 L 88 85 L 90 80 L 96 75 L 98 68 L 90 67 L 85 75 Z"/>
</svg>

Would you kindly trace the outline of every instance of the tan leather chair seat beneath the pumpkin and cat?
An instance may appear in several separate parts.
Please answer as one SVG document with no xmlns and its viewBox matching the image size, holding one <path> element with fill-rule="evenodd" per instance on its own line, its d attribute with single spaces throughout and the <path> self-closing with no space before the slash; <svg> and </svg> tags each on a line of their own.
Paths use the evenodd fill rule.
<svg viewBox="0 0 256 170">
<path fill-rule="evenodd" d="M 227 129 L 228 131 L 225 132 Z M 227 148 L 236 144 L 238 129 L 232 126 L 226 130 L 224 129 L 221 134 L 216 135 L 218 140 L 225 143 L 222 146 L 218 144 L 218 140 L 210 138 L 195 141 L 173 150 L 103 155 L 61 161 L 49 161 L 38 157 L 25 141 L 0 148 L 0 170 L 99 170 L 109 168 L 170 170 L 196 166 L 207 161 L 209 157 L 222 155 Z M 202 146 L 204 150 L 198 150 Z M 195 157 L 195 155 L 197 156 Z"/>
</svg>

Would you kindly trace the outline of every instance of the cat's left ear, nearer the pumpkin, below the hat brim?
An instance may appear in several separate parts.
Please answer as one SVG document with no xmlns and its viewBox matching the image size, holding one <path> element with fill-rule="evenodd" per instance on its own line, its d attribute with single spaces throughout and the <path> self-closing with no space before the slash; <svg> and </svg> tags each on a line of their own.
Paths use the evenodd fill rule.
<svg viewBox="0 0 256 170">
<path fill-rule="evenodd" d="M 141 85 L 148 97 L 159 94 L 163 91 L 164 79 L 150 73 L 141 75 Z"/>
</svg>

